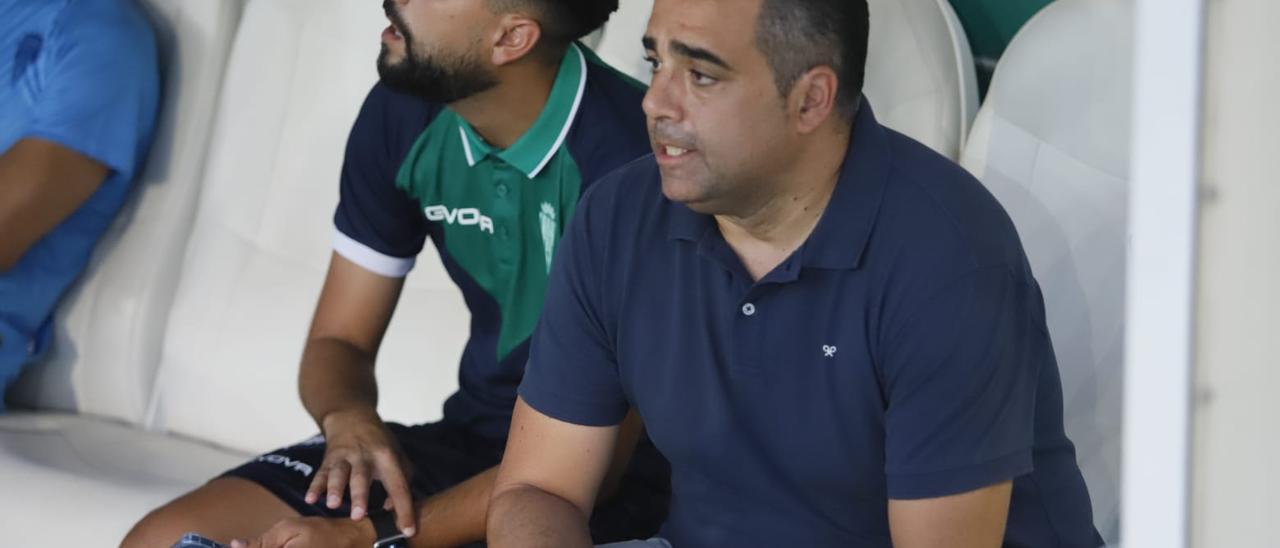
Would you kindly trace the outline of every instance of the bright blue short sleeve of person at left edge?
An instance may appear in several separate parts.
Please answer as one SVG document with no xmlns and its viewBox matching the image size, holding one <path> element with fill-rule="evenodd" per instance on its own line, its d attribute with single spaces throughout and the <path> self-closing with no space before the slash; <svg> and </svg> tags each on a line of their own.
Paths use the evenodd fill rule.
<svg viewBox="0 0 1280 548">
<path fill-rule="evenodd" d="M 146 19 L 119 6 L 69 6 L 41 56 L 46 77 L 27 134 L 132 179 L 150 143 L 160 96 L 155 36 Z"/>
</svg>

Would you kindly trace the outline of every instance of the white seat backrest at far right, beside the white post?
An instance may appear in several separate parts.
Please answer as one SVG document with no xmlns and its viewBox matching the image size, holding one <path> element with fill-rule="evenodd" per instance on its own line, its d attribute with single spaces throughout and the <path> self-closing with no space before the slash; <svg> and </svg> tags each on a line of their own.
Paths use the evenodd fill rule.
<svg viewBox="0 0 1280 548">
<path fill-rule="evenodd" d="M 996 68 L 963 164 L 1009 211 L 1044 294 L 1068 434 L 1119 534 L 1132 0 L 1059 0 Z"/>
</svg>

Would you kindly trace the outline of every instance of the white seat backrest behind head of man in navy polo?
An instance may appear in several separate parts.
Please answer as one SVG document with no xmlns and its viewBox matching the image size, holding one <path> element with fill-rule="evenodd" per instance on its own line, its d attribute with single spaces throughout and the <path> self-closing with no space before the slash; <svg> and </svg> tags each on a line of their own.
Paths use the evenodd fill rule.
<svg viewBox="0 0 1280 548">
<path fill-rule="evenodd" d="M 640 38 L 653 0 L 618 3 L 596 47 L 620 70 L 649 82 Z M 969 40 L 947 0 L 869 0 L 864 93 L 881 123 L 955 160 L 978 111 Z"/>
</svg>

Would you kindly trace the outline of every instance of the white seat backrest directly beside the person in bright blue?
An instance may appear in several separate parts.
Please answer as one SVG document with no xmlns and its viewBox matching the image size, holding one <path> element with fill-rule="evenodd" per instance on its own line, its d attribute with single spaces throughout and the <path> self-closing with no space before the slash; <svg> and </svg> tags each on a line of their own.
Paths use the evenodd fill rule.
<svg viewBox="0 0 1280 548">
<path fill-rule="evenodd" d="M 151 396 L 241 0 L 140 4 L 164 73 L 155 142 L 131 201 L 56 312 L 50 355 L 14 388 L 26 407 L 136 423 Z"/>
</svg>

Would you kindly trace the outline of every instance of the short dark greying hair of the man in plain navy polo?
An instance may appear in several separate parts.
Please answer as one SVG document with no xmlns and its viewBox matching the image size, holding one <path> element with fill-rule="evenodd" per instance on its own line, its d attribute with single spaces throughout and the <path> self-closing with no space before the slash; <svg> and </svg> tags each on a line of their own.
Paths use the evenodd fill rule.
<svg viewBox="0 0 1280 548">
<path fill-rule="evenodd" d="M 867 74 L 870 15 L 867 0 L 763 0 L 755 45 L 773 69 L 786 96 L 814 67 L 831 67 L 840 77 L 837 108 L 850 119 L 858 113 Z"/>
</svg>

